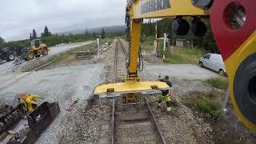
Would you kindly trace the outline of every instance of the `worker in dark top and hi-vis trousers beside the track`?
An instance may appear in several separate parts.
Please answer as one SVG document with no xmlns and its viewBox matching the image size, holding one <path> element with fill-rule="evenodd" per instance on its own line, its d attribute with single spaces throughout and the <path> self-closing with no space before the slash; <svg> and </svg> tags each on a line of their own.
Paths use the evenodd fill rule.
<svg viewBox="0 0 256 144">
<path fill-rule="evenodd" d="M 173 86 L 169 80 L 169 76 L 165 76 L 164 79 L 161 79 L 161 76 L 158 76 L 160 82 L 166 82 L 170 88 Z M 158 95 L 158 107 L 161 106 L 161 102 L 165 101 L 167 106 L 167 111 L 170 111 L 171 106 L 171 91 L 170 90 L 162 90 L 162 95 Z"/>
</svg>

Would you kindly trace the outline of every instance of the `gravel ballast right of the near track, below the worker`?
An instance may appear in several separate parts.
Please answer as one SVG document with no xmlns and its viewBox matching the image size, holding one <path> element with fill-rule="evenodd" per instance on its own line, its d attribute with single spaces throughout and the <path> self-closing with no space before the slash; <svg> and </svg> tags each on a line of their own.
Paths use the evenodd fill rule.
<svg viewBox="0 0 256 144">
<path fill-rule="evenodd" d="M 157 107 L 155 98 L 152 109 L 158 115 L 158 123 L 167 143 L 214 143 L 212 141 L 210 124 L 202 118 L 194 116 L 192 110 L 177 100 L 170 113 L 166 113 L 166 104 L 162 102 L 161 108 Z"/>
</svg>

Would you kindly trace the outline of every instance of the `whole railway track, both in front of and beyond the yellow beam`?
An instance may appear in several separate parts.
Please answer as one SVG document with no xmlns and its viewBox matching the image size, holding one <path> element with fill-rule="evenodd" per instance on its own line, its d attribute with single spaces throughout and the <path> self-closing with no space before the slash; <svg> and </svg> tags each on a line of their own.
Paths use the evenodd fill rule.
<svg viewBox="0 0 256 144">
<path fill-rule="evenodd" d="M 126 78 L 129 54 L 118 38 L 114 51 L 114 82 Z M 166 143 L 156 117 L 145 98 L 145 103 L 118 104 L 112 100 L 110 142 L 114 143 Z M 104 143 L 104 142 L 103 142 Z"/>
</svg>

